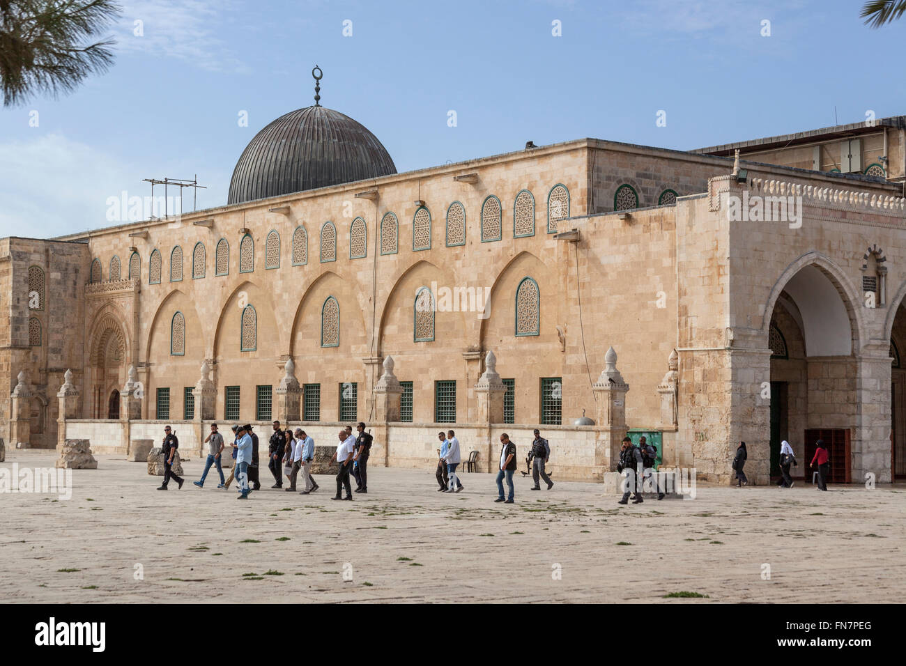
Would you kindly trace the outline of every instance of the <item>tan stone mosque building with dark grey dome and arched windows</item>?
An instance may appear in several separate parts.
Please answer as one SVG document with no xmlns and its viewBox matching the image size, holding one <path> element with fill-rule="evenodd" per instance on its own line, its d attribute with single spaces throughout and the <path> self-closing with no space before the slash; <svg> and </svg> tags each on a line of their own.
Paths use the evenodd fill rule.
<svg viewBox="0 0 906 666">
<path fill-rule="evenodd" d="M 258 132 L 226 206 L 0 239 L 7 447 L 364 420 L 389 466 L 432 469 L 452 427 L 487 471 L 538 427 L 559 478 L 602 478 L 627 430 L 719 483 L 739 440 L 764 484 L 819 437 L 834 481 L 906 476 L 906 117 L 397 173 L 318 99 Z"/>
</svg>

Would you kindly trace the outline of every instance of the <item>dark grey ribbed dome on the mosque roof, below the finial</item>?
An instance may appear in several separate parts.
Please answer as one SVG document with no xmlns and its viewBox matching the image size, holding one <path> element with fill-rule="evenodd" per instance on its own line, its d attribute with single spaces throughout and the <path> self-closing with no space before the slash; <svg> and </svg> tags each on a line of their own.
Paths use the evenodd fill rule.
<svg viewBox="0 0 906 666">
<path fill-rule="evenodd" d="M 255 134 L 229 184 L 227 204 L 396 173 L 369 130 L 340 111 L 309 106 Z"/>
</svg>

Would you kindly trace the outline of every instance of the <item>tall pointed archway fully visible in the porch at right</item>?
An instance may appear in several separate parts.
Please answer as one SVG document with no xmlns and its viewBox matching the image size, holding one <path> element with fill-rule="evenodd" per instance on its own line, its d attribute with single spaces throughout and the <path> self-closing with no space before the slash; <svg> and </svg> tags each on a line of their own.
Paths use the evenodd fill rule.
<svg viewBox="0 0 906 666">
<path fill-rule="evenodd" d="M 824 439 L 834 482 L 853 477 L 860 437 L 860 322 L 857 293 L 823 257 L 790 266 L 766 312 L 770 360 L 770 467 L 780 477 L 786 439 L 795 451 L 794 478 L 811 479 L 814 442 Z"/>
</svg>

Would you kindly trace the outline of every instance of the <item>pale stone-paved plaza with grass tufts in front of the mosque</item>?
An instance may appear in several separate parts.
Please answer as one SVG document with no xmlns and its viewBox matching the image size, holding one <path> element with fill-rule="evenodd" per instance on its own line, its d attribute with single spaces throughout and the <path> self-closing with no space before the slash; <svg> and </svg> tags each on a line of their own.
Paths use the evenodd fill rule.
<svg viewBox="0 0 906 666">
<path fill-rule="evenodd" d="M 144 463 L 96 458 L 97 470 L 72 472 L 68 501 L 0 495 L 6 602 L 876 603 L 906 593 L 902 486 L 699 485 L 694 500 L 619 507 L 601 484 L 530 492 L 516 478 L 516 504 L 505 505 L 488 474 L 463 474 L 465 490 L 450 496 L 428 469 L 373 468 L 367 496 L 334 502 L 332 477 L 302 496 L 270 489 L 263 468 L 262 490 L 236 502 L 216 471 L 204 489 L 191 485 L 198 458 L 167 492 Z M 54 460 L 12 450 L 0 467 Z M 663 598 L 680 591 L 708 599 Z"/>
</svg>

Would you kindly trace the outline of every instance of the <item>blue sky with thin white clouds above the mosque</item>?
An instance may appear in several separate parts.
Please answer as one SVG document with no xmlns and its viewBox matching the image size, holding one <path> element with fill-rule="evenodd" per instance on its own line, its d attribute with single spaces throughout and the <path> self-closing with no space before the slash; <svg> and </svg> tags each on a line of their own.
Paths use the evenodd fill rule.
<svg viewBox="0 0 906 666">
<path fill-rule="evenodd" d="M 840 123 L 906 114 L 906 19 L 872 30 L 861 4 L 130 2 L 110 72 L 0 108 L 0 236 L 108 226 L 108 199 L 148 195 L 146 178 L 198 174 L 198 208 L 225 204 L 255 132 L 313 103 L 314 64 L 322 104 L 400 171 L 526 140 L 692 149 L 833 125 L 834 108 Z"/>
</svg>

